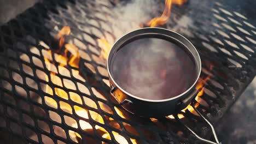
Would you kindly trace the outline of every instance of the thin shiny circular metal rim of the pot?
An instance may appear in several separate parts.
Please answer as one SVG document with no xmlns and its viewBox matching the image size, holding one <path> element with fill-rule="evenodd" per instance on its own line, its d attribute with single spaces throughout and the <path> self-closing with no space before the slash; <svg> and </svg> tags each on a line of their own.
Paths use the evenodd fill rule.
<svg viewBox="0 0 256 144">
<path fill-rule="evenodd" d="M 199 57 L 199 73 L 197 74 L 197 77 L 196 77 L 196 80 L 195 82 L 193 83 L 193 85 L 191 85 L 185 92 L 179 94 L 179 95 L 176 95 L 175 97 L 172 97 L 172 98 L 168 98 L 168 99 L 157 99 L 157 100 L 154 100 L 154 99 L 144 99 L 144 98 L 141 98 L 141 97 L 137 97 L 136 95 L 133 95 L 127 91 L 125 91 L 123 88 L 121 88 L 117 82 L 115 82 L 115 80 L 113 79 L 113 76 L 111 75 L 110 73 L 110 70 L 109 70 L 109 57 L 110 57 L 110 53 L 112 53 L 112 50 L 113 50 L 113 47 L 115 46 L 115 44 L 117 44 L 117 42 L 122 39 L 123 37 L 125 37 L 125 35 L 127 34 L 130 34 L 130 33 L 133 33 L 133 32 L 137 32 L 137 31 L 141 31 L 141 29 L 162 29 L 162 30 L 165 30 L 165 31 L 169 31 L 169 32 L 172 32 L 172 33 L 175 33 L 179 36 L 181 36 L 183 39 L 185 39 L 186 41 L 189 42 L 189 44 L 195 49 L 195 52 L 196 54 L 198 55 Z M 193 55 L 193 54 L 192 54 Z M 193 55 L 194 56 L 194 55 Z M 194 56 L 195 57 L 195 56 Z M 173 99 L 177 99 L 179 97 L 182 97 L 184 94 L 188 93 L 192 88 L 194 88 L 194 86 L 196 85 L 197 81 L 199 80 L 199 77 L 200 77 L 200 74 L 201 74 L 201 69 L 202 69 L 202 64 L 201 64 L 201 58 L 200 58 L 200 55 L 198 53 L 198 51 L 196 50 L 195 46 L 187 39 L 185 38 L 183 35 L 177 33 L 177 32 L 174 32 L 174 31 L 171 31 L 169 29 L 166 29 L 166 28 L 159 28 L 159 27 L 147 27 L 147 28 L 139 28 L 139 29 L 136 29 L 135 31 L 132 31 L 132 32 L 129 32 L 129 33 L 126 33 L 124 34 L 121 38 L 119 38 L 117 41 L 115 41 L 115 43 L 113 44 L 111 50 L 109 51 L 108 53 L 108 58 L 107 58 L 107 70 L 108 70 L 108 75 L 109 75 L 109 79 L 112 80 L 112 82 L 114 83 L 115 86 L 117 86 L 122 92 L 124 92 L 125 94 L 135 98 L 135 99 L 139 99 L 139 100 L 143 100 L 143 101 L 149 101 L 149 102 L 165 102 L 165 101 L 169 101 L 169 100 L 173 100 Z"/>
</svg>

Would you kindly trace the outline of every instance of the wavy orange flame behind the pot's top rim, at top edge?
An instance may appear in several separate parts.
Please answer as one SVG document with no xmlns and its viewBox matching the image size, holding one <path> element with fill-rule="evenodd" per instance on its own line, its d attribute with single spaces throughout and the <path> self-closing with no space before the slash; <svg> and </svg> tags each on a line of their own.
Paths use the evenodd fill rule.
<svg viewBox="0 0 256 144">
<path fill-rule="evenodd" d="M 185 2 L 187 2 L 187 0 L 166 0 L 165 10 L 162 13 L 162 15 L 160 17 L 154 17 L 152 20 L 147 22 L 147 25 L 150 27 L 164 25 L 168 21 L 169 17 L 171 16 L 172 4 L 182 5 Z"/>
</svg>

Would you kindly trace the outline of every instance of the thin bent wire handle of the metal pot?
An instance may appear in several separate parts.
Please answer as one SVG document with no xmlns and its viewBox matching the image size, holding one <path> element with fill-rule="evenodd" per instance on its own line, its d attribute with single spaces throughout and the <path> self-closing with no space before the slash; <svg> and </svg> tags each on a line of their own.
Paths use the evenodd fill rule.
<svg viewBox="0 0 256 144">
<path fill-rule="evenodd" d="M 193 103 L 193 104 L 191 104 L 191 106 L 193 107 L 193 109 L 199 114 L 199 116 L 200 116 L 201 118 L 203 118 L 203 120 L 204 120 L 208 125 L 210 125 L 211 130 L 212 130 L 212 134 L 213 134 L 214 139 L 215 139 L 216 142 L 203 139 L 202 137 L 200 137 L 199 135 L 197 135 L 192 129 L 189 128 L 189 126 L 188 126 L 187 124 L 181 122 L 181 120 L 178 118 L 177 115 L 174 115 L 175 119 L 177 119 L 177 121 L 178 121 L 179 123 L 182 123 L 182 124 L 184 125 L 184 127 L 187 128 L 197 139 L 199 139 L 199 140 L 201 140 L 201 141 L 203 141 L 203 142 L 206 142 L 206 143 L 210 143 L 210 144 L 221 144 L 221 142 L 219 142 L 219 140 L 218 140 L 218 137 L 217 137 L 217 135 L 216 135 L 216 131 L 215 131 L 213 125 L 211 124 L 211 122 L 208 121 L 208 119 L 207 119 L 205 116 L 203 116 L 202 113 L 201 113 L 199 110 L 196 109 L 196 107 L 195 107 L 195 105 L 194 105 L 195 103 L 194 103 L 194 102 L 192 102 L 192 103 Z"/>
</svg>

